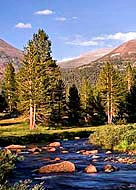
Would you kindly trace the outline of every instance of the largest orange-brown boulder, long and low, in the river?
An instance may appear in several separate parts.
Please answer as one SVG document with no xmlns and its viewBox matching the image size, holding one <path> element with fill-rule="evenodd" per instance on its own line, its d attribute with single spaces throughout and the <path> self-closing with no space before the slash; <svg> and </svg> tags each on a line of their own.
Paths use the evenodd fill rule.
<svg viewBox="0 0 136 190">
<path fill-rule="evenodd" d="M 50 164 L 41 167 L 38 172 L 43 173 L 72 173 L 75 172 L 75 165 L 69 161 L 63 161 L 57 164 Z"/>
</svg>

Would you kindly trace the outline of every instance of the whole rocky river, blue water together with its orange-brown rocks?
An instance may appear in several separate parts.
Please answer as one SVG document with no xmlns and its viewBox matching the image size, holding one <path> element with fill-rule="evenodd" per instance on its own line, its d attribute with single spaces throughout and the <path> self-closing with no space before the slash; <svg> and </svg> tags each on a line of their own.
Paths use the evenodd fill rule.
<svg viewBox="0 0 136 190">
<path fill-rule="evenodd" d="M 48 190 L 136 190 L 136 156 L 96 149 L 86 139 L 7 147 L 24 156 L 10 182 L 31 179 Z"/>
</svg>

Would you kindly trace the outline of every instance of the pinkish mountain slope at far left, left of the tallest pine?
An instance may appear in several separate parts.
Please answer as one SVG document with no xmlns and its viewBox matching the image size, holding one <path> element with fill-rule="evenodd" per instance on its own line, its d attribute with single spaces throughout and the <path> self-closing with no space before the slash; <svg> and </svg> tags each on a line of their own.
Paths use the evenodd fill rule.
<svg viewBox="0 0 136 190">
<path fill-rule="evenodd" d="M 18 69 L 22 58 L 22 51 L 0 39 L 0 79 L 3 76 L 7 63 L 12 61 L 15 69 Z"/>
</svg>

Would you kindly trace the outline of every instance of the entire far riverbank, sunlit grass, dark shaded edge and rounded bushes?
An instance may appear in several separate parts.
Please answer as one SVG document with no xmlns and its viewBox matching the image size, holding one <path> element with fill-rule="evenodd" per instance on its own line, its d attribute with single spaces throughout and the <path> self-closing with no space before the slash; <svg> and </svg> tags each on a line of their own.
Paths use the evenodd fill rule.
<svg viewBox="0 0 136 190">
<path fill-rule="evenodd" d="M 38 126 L 37 129 L 30 131 L 25 118 L 0 120 L 0 146 L 39 144 L 75 138 L 89 138 L 90 143 L 105 149 L 135 151 L 136 125 L 73 126 L 59 129 Z"/>
</svg>

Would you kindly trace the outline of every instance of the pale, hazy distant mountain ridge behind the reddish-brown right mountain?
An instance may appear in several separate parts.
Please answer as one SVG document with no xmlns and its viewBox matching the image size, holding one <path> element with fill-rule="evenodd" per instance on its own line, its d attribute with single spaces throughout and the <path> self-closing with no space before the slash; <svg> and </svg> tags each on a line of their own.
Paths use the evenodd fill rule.
<svg viewBox="0 0 136 190">
<path fill-rule="evenodd" d="M 103 57 L 104 55 L 108 54 L 112 50 L 113 50 L 112 48 L 98 49 L 98 50 L 80 55 L 79 57 L 70 59 L 68 61 L 60 61 L 58 62 L 58 65 L 61 68 L 76 68 L 82 65 L 87 65 L 90 62 Z"/>
</svg>

